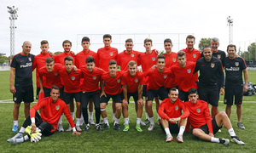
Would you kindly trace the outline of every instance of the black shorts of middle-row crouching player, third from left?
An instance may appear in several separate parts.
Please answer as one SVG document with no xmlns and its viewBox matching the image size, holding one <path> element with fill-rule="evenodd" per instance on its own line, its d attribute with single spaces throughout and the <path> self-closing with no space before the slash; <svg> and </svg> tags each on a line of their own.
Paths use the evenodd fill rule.
<svg viewBox="0 0 256 153">
<path fill-rule="evenodd" d="M 83 109 L 87 109 L 89 100 L 92 99 L 95 109 L 100 109 L 100 90 L 96 90 L 94 92 L 83 92 L 81 97 L 81 104 Z"/>
</svg>

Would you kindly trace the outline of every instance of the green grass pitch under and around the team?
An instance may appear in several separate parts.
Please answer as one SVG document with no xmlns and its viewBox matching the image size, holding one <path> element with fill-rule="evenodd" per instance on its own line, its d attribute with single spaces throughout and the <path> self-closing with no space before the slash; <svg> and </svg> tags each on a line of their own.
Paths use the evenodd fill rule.
<svg viewBox="0 0 256 153">
<path fill-rule="evenodd" d="M 9 71 L 0 71 L 1 82 L 1 98 L 12 99 L 12 94 L 9 93 Z M 256 71 L 249 71 L 249 82 L 256 84 Z M 35 84 L 35 79 L 34 79 Z M 36 86 L 34 86 L 36 87 Z M 236 127 L 236 106 L 233 106 L 231 113 L 231 123 L 235 129 L 236 135 L 246 144 L 238 145 L 230 142 L 230 145 L 216 144 L 201 141 L 195 138 L 191 131 L 183 134 L 183 144 L 177 143 L 176 140 L 171 143 L 166 143 L 166 134 L 156 124 L 157 116 L 154 109 L 155 128 L 152 132 L 148 132 L 148 126 L 142 127 L 143 132 L 138 133 L 135 129 L 136 113 L 134 104 L 129 105 L 130 130 L 128 132 L 115 131 L 112 122 L 111 105 L 107 106 L 108 121 L 111 128 L 107 131 L 98 132 L 95 126 L 90 126 L 88 132 L 82 132 L 81 135 L 72 135 L 70 132 L 58 133 L 49 137 L 43 137 L 38 143 L 25 142 L 22 144 L 13 145 L 7 142 L 7 139 L 13 137 L 15 133 L 11 132 L 13 126 L 12 103 L 0 103 L 1 117 L 1 152 L 255 152 L 256 151 L 256 103 L 246 101 L 256 101 L 256 96 L 245 96 L 243 104 L 242 122 L 246 129 L 241 130 Z M 223 97 L 220 98 L 223 100 Z M 33 103 L 32 105 L 34 105 Z M 154 106 L 153 106 L 154 107 Z M 154 107 L 155 108 L 155 107 Z M 219 103 L 219 111 L 224 111 L 225 105 Z M 143 113 L 143 119 L 145 118 Z M 94 117 L 95 119 L 95 117 Z M 24 122 L 23 103 L 20 105 L 19 127 Z M 120 119 L 121 129 L 123 126 L 123 117 Z M 63 117 L 63 126 L 68 127 L 68 122 Z M 83 126 L 84 127 L 84 126 Z M 177 134 L 172 134 L 176 138 Z M 223 127 L 221 133 L 215 135 L 218 138 L 230 139 L 230 135 Z"/>
</svg>

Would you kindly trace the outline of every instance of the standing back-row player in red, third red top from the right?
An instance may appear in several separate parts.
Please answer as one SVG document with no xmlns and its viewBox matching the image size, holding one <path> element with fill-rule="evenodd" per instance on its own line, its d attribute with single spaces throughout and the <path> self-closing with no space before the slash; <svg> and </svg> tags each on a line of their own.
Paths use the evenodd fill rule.
<svg viewBox="0 0 256 153">
<path fill-rule="evenodd" d="M 156 59 L 157 59 L 157 53 L 155 50 L 152 50 L 153 44 L 152 40 L 149 38 L 146 38 L 144 40 L 144 48 L 146 48 L 146 52 L 141 54 L 138 59 L 138 65 L 142 65 L 143 72 L 148 71 L 153 65 L 156 65 Z M 143 96 L 147 99 L 147 83 L 148 83 L 148 77 L 143 78 Z M 159 99 L 154 98 L 155 100 L 155 108 L 158 110 L 158 107 L 160 105 Z M 146 114 L 146 120 L 143 126 L 149 123 L 149 117 L 148 117 L 148 108 L 147 108 L 147 100 L 145 105 L 145 114 Z M 159 116 L 158 116 L 159 118 Z"/>
</svg>

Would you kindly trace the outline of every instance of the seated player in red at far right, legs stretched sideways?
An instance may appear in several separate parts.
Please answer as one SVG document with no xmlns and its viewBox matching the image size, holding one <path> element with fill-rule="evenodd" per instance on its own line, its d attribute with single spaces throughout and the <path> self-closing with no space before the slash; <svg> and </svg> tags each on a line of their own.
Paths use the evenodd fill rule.
<svg viewBox="0 0 256 153">
<path fill-rule="evenodd" d="M 218 112 L 213 119 L 211 118 L 207 102 L 198 100 L 198 94 L 195 88 L 189 89 L 189 101 L 186 101 L 185 105 L 187 109 L 189 109 L 189 123 L 193 129 L 193 134 L 199 139 L 219 144 L 229 144 L 230 139 L 218 139 L 213 135 L 218 132 L 218 129 L 224 126 L 230 133 L 233 142 L 236 142 L 236 144 L 244 144 L 236 136 L 230 119 L 224 111 Z"/>
</svg>

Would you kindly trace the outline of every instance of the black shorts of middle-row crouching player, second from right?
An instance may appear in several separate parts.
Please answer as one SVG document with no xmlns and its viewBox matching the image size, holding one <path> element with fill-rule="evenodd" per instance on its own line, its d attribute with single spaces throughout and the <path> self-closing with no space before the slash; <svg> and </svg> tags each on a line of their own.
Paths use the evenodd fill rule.
<svg viewBox="0 0 256 153">
<path fill-rule="evenodd" d="M 160 96 L 161 99 L 168 98 L 168 94 L 166 93 L 166 88 L 162 86 L 158 90 L 151 90 L 148 89 L 148 100 L 147 101 L 153 101 L 154 97 Z"/>
</svg>

